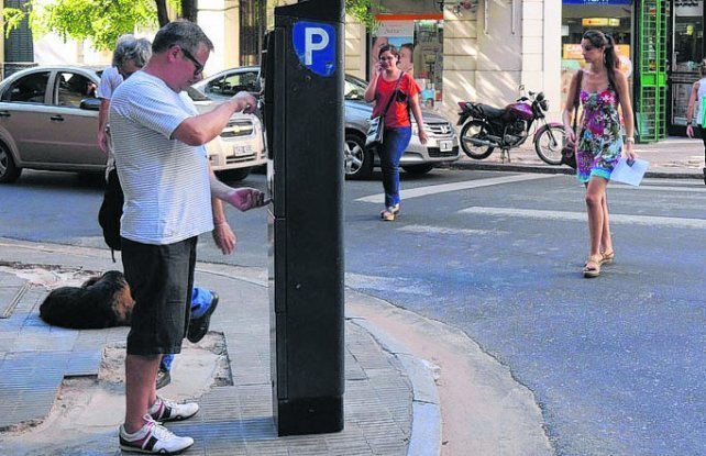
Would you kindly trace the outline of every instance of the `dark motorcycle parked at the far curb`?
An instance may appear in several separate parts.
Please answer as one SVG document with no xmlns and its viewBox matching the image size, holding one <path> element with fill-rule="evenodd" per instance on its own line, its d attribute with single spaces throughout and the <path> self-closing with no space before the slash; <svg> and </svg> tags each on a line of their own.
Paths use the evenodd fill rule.
<svg viewBox="0 0 706 456">
<path fill-rule="evenodd" d="M 561 149 L 566 143 L 564 125 L 547 122 L 544 112 L 549 100 L 543 92 L 528 92 L 507 107 L 460 101 L 457 125 L 463 125 L 460 143 L 471 158 L 487 158 L 495 148 L 500 149 L 500 159 L 510 162 L 510 149 L 519 147 L 530 135 L 530 129 L 542 125 L 534 132 L 534 151 L 549 165 L 561 165 Z M 534 121 L 538 121 L 534 124 Z"/>
</svg>

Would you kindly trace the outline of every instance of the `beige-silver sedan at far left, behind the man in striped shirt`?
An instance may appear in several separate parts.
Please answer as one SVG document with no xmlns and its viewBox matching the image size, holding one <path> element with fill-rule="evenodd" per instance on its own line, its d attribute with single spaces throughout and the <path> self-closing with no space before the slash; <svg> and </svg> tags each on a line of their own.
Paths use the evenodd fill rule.
<svg viewBox="0 0 706 456">
<path fill-rule="evenodd" d="M 0 182 L 13 182 L 23 168 L 102 173 L 98 147 L 96 89 L 100 69 L 38 66 L 0 82 Z M 187 93 L 201 112 L 213 108 L 197 89 Z M 229 180 L 245 178 L 267 163 L 260 120 L 235 113 L 220 136 L 206 145 L 213 169 Z"/>
</svg>

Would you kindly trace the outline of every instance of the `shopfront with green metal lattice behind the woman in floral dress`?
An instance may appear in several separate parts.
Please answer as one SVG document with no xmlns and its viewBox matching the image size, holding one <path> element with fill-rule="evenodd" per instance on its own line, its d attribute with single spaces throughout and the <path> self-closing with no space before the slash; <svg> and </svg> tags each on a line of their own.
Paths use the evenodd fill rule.
<svg viewBox="0 0 706 456">
<path fill-rule="evenodd" d="M 585 65 L 578 43 L 588 29 L 610 33 L 618 45 L 638 140 L 685 135 L 688 98 L 704 58 L 703 0 L 563 0 L 564 100 L 571 75 Z"/>
</svg>

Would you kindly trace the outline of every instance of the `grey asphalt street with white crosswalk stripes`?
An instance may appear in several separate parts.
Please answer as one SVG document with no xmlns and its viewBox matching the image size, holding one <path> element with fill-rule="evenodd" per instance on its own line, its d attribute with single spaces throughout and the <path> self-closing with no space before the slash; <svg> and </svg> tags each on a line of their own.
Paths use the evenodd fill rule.
<svg viewBox="0 0 706 456">
<path fill-rule="evenodd" d="M 346 286 L 463 330 L 534 392 L 559 455 L 706 454 L 703 181 L 611 186 L 616 263 L 592 280 L 571 176 L 434 170 L 402 188 L 383 223 L 379 181 L 345 183 Z M 26 173 L 0 187 L 0 236 L 100 246 L 100 198 Z M 200 259 L 266 267 L 264 212 L 228 216 L 238 253 L 205 236 Z"/>
</svg>

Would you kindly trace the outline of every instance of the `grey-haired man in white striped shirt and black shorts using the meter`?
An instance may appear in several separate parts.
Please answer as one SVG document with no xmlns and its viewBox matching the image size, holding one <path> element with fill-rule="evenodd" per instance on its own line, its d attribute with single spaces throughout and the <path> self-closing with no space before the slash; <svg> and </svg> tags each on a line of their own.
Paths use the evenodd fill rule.
<svg viewBox="0 0 706 456">
<path fill-rule="evenodd" d="M 172 454 L 194 444 L 158 422 L 185 420 L 198 404 L 157 397 L 163 354 L 179 353 L 189 320 L 196 242 L 213 230 L 211 197 L 241 211 L 264 204 L 264 193 L 220 182 L 203 145 L 235 111 L 252 113 L 256 100 L 241 92 L 198 114 L 179 93 L 201 79 L 211 41 L 196 24 L 172 22 L 157 32 L 147 65 L 113 93 L 110 125 L 125 194 L 122 262 L 136 305 L 125 358 L 123 451 Z"/>
</svg>

